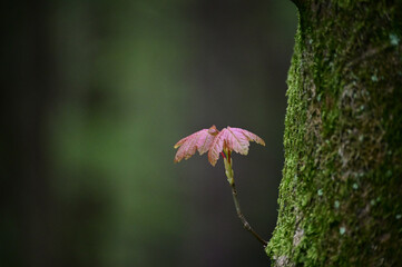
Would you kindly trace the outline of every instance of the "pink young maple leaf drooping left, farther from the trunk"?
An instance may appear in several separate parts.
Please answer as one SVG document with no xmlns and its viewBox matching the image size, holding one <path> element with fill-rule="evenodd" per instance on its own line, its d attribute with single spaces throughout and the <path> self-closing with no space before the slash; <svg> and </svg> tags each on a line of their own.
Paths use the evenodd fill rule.
<svg viewBox="0 0 402 267">
<path fill-rule="evenodd" d="M 182 159 L 189 159 L 197 150 L 199 155 L 208 151 L 218 132 L 216 127 L 212 126 L 209 129 L 199 130 L 179 140 L 174 146 L 174 148 L 180 147 L 175 156 L 175 162 L 180 162 Z"/>
</svg>

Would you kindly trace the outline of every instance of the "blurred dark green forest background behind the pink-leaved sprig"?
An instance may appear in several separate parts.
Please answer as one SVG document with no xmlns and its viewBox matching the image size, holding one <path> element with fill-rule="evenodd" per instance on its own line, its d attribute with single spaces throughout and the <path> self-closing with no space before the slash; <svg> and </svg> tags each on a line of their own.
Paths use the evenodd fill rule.
<svg viewBox="0 0 402 267">
<path fill-rule="evenodd" d="M 242 208 L 268 239 L 296 9 L 282 0 L 8 1 L 0 266 L 268 266 L 222 159 L 180 138 L 248 129 Z"/>
</svg>

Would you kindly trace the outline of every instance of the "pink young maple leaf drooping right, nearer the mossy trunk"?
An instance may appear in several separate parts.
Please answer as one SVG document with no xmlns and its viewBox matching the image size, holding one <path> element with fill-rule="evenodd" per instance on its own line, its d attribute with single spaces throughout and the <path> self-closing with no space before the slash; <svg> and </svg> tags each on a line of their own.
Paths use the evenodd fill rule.
<svg viewBox="0 0 402 267">
<path fill-rule="evenodd" d="M 217 134 L 213 144 L 210 145 L 208 152 L 209 164 L 215 166 L 222 151 L 225 151 L 225 154 L 228 155 L 229 162 L 232 151 L 238 152 L 241 155 L 247 155 L 249 141 L 255 141 L 265 146 L 264 140 L 251 131 L 241 128 L 224 128 L 219 134 Z"/>
</svg>

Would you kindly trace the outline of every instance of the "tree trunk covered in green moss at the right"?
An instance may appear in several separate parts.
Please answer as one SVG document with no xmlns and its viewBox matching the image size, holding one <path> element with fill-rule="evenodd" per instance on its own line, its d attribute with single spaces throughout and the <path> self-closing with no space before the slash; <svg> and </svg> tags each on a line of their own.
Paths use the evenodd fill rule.
<svg viewBox="0 0 402 267">
<path fill-rule="evenodd" d="M 402 266 L 402 1 L 300 0 L 274 266 Z"/>
</svg>

